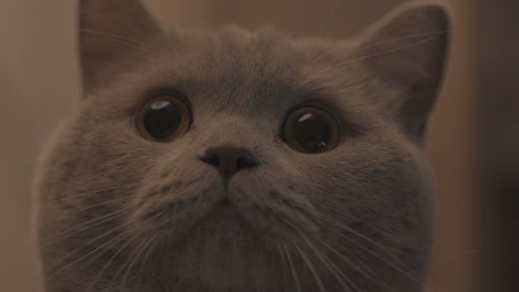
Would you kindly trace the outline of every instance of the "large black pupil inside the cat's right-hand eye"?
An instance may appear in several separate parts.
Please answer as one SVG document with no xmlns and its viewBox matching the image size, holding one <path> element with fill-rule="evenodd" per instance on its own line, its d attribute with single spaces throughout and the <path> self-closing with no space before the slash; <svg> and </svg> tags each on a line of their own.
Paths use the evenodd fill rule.
<svg viewBox="0 0 519 292">
<path fill-rule="evenodd" d="M 303 149 L 318 153 L 328 146 L 332 127 L 326 118 L 316 113 L 303 113 L 294 122 L 294 137 Z"/>
</svg>

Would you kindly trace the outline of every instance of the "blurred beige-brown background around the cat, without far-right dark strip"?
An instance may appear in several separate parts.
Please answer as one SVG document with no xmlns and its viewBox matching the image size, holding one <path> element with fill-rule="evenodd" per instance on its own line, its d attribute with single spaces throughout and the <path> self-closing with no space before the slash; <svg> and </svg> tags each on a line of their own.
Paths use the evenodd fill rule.
<svg viewBox="0 0 519 292">
<path fill-rule="evenodd" d="M 162 23 L 272 25 L 293 35 L 345 38 L 396 0 L 144 1 Z M 452 0 L 454 49 L 432 116 L 428 155 L 437 174 L 438 242 L 430 282 L 438 292 L 478 291 L 472 140 L 474 8 Z M 0 9 L 0 291 L 38 291 L 31 184 L 39 148 L 80 98 L 75 1 L 2 0 Z"/>
</svg>

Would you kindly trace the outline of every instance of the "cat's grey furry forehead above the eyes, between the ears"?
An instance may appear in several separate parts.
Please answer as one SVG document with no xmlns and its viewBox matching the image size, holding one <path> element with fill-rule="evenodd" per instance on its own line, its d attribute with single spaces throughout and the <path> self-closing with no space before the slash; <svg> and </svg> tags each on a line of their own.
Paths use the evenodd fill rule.
<svg viewBox="0 0 519 292">
<path fill-rule="evenodd" d="M 150 64 L 155 80 L 190 98 L 257 112 L 356 95 L 354 69 L 340 61 L 344 56 L 323 42 L 302 42 L 273 30 L 225 29 L 171 35 Z"/>
</svg>

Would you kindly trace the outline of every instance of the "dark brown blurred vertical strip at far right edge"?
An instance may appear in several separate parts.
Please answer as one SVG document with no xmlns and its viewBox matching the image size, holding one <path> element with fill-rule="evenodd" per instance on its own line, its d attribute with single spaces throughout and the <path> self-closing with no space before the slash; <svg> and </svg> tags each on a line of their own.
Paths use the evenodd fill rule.
<svg viewBox="0 0 519 292">
<path fill-rule="evenodd" d="M 519 290 L 519 1 L 478 0 L 477 127 L 485 288 Z"/>
</svg>

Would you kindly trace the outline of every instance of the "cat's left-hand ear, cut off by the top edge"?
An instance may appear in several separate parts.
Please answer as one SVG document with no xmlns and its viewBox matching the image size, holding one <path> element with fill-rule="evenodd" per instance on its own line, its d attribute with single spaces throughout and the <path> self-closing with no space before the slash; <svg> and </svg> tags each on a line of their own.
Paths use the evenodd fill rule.
<svg viewBox="0 0 519 292">
<path fill-rule="evenodd" d="M 160 25 L 138 0 L 81 0 L 79 49 L 84 92 L 102 86 L 123 70 L 123 60 L 145 50 L 162 34 Z M 115 65 L 116 64 L 116 65 Z"/>
</svg>

